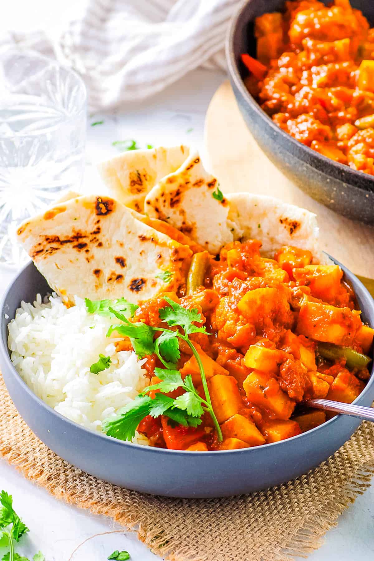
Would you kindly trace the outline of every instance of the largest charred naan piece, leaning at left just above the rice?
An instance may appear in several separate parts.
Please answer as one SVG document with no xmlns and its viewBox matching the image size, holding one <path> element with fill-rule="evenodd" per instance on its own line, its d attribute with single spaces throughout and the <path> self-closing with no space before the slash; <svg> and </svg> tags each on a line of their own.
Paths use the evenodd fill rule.
<svg viewBox="0 0 374 561">
<path fill-rule="evenodd" d="M 137 220 L 121 203 L 81 196 L 26 220 L 19 241 L 64 301 L 138 303 L 184 282 L 192 251 Z M 170 282 L 156 275 L 169 271 Z"/>
</svg>

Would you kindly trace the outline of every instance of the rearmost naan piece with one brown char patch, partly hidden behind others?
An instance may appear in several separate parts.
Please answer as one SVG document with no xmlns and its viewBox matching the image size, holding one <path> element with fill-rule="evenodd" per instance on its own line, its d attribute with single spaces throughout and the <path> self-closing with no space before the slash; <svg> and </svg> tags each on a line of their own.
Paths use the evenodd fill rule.
<svg viewBox="0 0 374 561">
<path fill-rule="evenodd" d="M 175 172 L 188 158 L 188 146 L 130 150 L 98 165 L 109 195 L 142 212 L 144 199 L 162 177 Z"/>
</svg>

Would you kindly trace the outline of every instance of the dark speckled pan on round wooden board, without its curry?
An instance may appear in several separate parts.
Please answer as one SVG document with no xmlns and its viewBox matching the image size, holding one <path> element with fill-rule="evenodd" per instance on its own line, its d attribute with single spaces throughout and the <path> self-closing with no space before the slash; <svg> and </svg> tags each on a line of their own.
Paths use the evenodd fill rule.
<svg viewBox="0 0 374 561">
<path fill-rule="evenodd" d="M 325 4 L 330 0 L 322 0 Z M 369 22 L 374 21 L 374 2 L 351 0 Z M 230 81 L 239 109 L 258 145 L 267 157 L 308 195 L 345 217 L 374 224 L 374 176 L 351 169 L 318 154 L 281 130 L 262 111 L 243 83 L 247 71 L 241 53 L 256 56 L 253 22 L 265 12 L 280 11 L 284 0 L 246 0 L 230 24 L 226 56 Z"/>
</svg>

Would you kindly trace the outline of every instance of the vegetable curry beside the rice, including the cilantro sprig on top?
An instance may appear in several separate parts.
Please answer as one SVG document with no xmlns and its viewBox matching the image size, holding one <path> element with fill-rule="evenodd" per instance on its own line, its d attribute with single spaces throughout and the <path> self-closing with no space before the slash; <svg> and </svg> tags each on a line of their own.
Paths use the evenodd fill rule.
<svg viewBox="0 0 374 561">
<path fill-rule="evenodd" d="M 341 269 L 312 264 L 297 247 L 274 259 L 260 247 L 199 251 L 180 293 L 161 293 L 132 317 L 110 309 L 124 324 L 111 328 L 123 336 L 117 350 L 147 358 L 150 385 L 107 434 L 130 440 L 137 428 L 155 447 L 247 448 L 325 422 L 324 411 L 304 406 L 309 398 L 357 398 L 374 330 Z"/>
</svg>

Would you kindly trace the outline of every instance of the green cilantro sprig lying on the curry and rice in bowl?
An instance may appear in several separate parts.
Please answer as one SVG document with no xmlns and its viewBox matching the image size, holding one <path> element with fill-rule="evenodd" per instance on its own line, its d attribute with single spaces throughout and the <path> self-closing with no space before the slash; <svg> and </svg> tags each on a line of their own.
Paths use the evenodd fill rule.
<svg viewBox="0 0 374 561">
<path fill-rule="evenodd" d="M 192 333 L 206 333 L 205 327 L 197 327 L 195 323 L 202 323 L 202 317 L 197 309 L 187 310 L 177 302 L 165 296 L 164 300 L 169 304 L 159 310 L 160 319 L 165 321 L 169 327 L 182 328 L 183 333 L 177 330 L 163 327 L 153 327 L 142 322 L 132 323 L 121 312 L 117 312 L 109 307 L 109 312 L 123 321 L 124 325 L 112 325 L 107 333 L 109 337 L 114 331 L 119 335 L 130 338 L 133 350 L 140 358 L 153 353 L 159 357 L 165 369 L 155 369 L 155 374 L 160 378 L 160 382 L 147 387 L 142 394 L 135 400 L 128 403 L 118 416 L 104 422 L 103 430 L 109 436 L 115 436 L 121 440 L 131 440 L 135 435 L 135 430 L 144 417 L 151 415 L 158 417 L 166 415 L 183 426 L 198 426 L 201 424 L 201 416 L 204 412 L 209 412 L 213 419 L 218 439 L 222 440 L 222 433 L 218 420 L 213 411 L 209 389 L 207 386 L 204 365 L 200 355 L 189 335 Z M 160 333 L 154 339 L 155 334 Z M 201 398 L 193 385 L 191 376 L 186 376 L 182 380 L 181 373 L 176 369 L 176 364 L 181 356 L 179 350 L 179 339 L 186 342 L 191 348 L 200 370 L 202 387 L 204 388 L 205 399 Z M 172 392 L 174 389 L 183 388 L 186 393 L 173 399 L 165 396 L 164 393 Z M 147 393 L 151 390 L 160 390 L 164 393 L 156 393 L 151 399 Z"/>
</svg>

